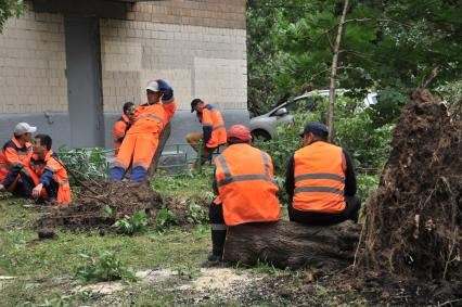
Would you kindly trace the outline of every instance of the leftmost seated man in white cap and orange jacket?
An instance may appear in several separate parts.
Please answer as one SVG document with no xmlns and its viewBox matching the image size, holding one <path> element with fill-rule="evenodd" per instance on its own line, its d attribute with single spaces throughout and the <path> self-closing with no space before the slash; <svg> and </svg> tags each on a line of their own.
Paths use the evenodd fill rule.
<svg viewBox="0 0 462 307">
<path fill-rule="evenodd" d="M 14 137 L 4 143 L 0 152 L 0 191 L 12 192 L 16 196 L 29 196 L 35 178 L 29 168 L 33 146 L 31 133 L 37 131 L 27 123 L 14 128 Z"/>
</svg>

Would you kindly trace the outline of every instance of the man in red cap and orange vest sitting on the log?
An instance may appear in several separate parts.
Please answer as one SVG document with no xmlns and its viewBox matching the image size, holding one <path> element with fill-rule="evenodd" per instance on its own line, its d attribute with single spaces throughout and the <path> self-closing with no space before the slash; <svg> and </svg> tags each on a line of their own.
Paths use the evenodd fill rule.
<svg viewBox="0 0 462 307">
<path fill-rule="evenodd" d="M 277 221 L 280 206 L 271 157 L 251 145 L 251 131 L 243 125 L 228 130 L 228 148 L 215 158 L 210 204 L 213 251 L 209 261 L 222 258 L 227 226 Z"/>
</svg>

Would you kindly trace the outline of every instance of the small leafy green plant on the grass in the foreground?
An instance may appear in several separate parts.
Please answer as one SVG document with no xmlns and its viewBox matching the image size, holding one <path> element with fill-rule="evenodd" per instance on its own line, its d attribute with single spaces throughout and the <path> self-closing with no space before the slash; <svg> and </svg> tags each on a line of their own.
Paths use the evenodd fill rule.
<svg viewBox="0 0 462 307">
<path fill-rule="evenodd" d="M 76 268 L 75 279 L 80 283 L 126 280 L 136 281 L 134 271 L 125 267 L 111 252 L 104 251 L 98 257 L 80 254 L 86 264 Z"/>
</svg>

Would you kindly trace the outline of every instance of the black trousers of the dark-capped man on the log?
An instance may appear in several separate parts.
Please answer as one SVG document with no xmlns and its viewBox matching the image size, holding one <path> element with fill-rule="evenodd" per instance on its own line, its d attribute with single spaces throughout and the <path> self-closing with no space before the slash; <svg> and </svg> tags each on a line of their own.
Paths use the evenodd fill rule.
<svg viewBox="0 0 462 307">
<path fill-rule="evenodd" d="M 294 209 L 292 206 L 292 200 L 288 203 L 288 218 L 292 221 L 308 223 L 308 225 L 318 225 L 318 226 L 329 226 L 343 222 L 347 219 L 351 219 L 355 222 L 358 222 L 359 209 L 361 208 L 361 201 L 358 196 L 345 196 L 345 209 L 337 214 L 329 213 L 312 213 L 312 212 L 301 212 Z"/>
</svg>

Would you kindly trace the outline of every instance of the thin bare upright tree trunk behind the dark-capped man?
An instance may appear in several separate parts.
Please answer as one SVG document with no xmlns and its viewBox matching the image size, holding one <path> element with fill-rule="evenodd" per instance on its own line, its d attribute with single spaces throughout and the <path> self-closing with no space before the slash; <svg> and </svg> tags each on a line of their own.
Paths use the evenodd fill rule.
<svg viewBox="0 0 462 307">
<path fill-rule="evenodd" d="M 329 85 L 329 141 L 332 142 L 334 138 L 334 106 L 335 106 L 335 77 L 337 76 L 338 53 L 341 50 L 342 35 L 344 30 L 345 17 L 348 11 L 348 0 L 344 2 L 344 10 L 342 12 L 341 22 L 338 23 L 337 37 L 333 50 L 331 77 Z"/>
</svg>

